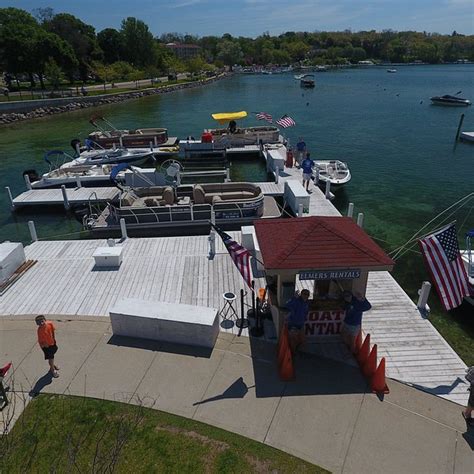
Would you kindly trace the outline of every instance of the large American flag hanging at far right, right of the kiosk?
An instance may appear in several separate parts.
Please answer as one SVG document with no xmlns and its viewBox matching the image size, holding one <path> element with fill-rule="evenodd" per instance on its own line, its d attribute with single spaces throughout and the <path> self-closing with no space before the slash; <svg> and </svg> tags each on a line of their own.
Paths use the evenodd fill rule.
<svg viewBox="0 0 474 474">
<path fill-rule="evenodd" d="M 446 311 L 470 294 L 470 284 L 459 252 L 456 227 L 450 224 L 420 240 L 421 251 Z"/>
</svg>

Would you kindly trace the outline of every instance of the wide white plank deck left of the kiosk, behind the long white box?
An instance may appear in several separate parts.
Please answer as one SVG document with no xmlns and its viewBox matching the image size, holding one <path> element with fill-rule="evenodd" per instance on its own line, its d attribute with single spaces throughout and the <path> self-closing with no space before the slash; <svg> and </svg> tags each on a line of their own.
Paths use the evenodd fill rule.
<svg viewBox="0 0 474 474">
<path fill-rule="evenodd" d="M 230 234 L 240 239 L 240 232 Z M 212 260 L 207 236 L 127 239 L 121 244 L 120 268 L 96 268 L 92 254 L 106 245 L 105 240 L 82 240 L 28 246 L 27 258 L 35 255 L 38 263 L 0 297 L 0 316 L 108 316 L 124 297 L 220 309 L 225 292 L 240 298 L 240 289 L 246 290 L 220 239 Z M 256 279 L 257 288 L 263 284 Z M 249 308 L 250 292 L 245 303 Z"/>
</svg>

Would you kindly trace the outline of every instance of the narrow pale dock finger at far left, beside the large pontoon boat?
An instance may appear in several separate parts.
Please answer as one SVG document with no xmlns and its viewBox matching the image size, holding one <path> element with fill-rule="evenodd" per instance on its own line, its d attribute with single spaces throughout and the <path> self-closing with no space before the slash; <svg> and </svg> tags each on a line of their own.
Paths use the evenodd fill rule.
<svg viewBox="0 0 474 474">
<path fill-rule="evenodd" d="M 65 198 L 65 195 L 66 198 Z M 116 201 L 120 191 L 115 187 L 103 188 L 74 188 L 74 189 L 31 189 L 18 195 L 12 200 L 12 209 L 33 206 L 64 206 L 97 204 Z"/>
</svg>

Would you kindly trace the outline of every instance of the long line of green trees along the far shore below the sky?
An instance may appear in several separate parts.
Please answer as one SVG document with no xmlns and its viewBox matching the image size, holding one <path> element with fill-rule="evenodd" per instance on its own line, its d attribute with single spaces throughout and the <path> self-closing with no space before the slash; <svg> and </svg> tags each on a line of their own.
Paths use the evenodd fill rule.
<svg viewBox="0 0 474 474">
<path fill-rule="evenodd" d="M 199 55 L 188 61 L 166 47 L 191 43 Z M 44 78 L 87 82 L 139 80 L 182 71 L 199 72 L 224 65 L 307 65 L 357 63 L 362 60 L 407 63 L 474 61 L 474 36 L 392 30 L 264 33 L 257 38 L 165 33 L 154 37 L 141 20 L 128 17 L 120 29 L 93 26 L 69 13 L 39 8 L 32 13 L 0 9 L 0 72 L 7 80 L 26 76 L 32 87 Z"/>
</svg>

